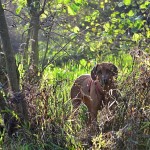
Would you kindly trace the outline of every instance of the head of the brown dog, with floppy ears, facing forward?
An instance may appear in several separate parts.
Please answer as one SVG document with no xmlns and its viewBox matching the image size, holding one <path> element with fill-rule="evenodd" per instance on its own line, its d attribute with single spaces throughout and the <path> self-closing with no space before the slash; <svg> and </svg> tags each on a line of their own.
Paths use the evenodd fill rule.
<svg viewBox="0 0 150 150">
<path fill-rule="evenodd" d="M 113 77 L 117 77 L 118 69 L 112 63 L 97 64 L 91 71 L 93 80 L 99 80 L 101 85 L 109 85 L 113 81 Z"/>
</svg>

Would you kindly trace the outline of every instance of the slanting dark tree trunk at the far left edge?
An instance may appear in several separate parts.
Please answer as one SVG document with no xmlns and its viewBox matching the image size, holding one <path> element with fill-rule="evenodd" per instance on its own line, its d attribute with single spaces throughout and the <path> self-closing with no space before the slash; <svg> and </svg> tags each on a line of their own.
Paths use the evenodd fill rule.
<svg viewBox="0 0 150 150">
<path fill-rule="evenodd" d="M 12 91 L 12 100 L 15 104 L 15 112 L 18 116 L 21 116 L 23 119 L 27 119 L 27 109 L 26 102 L 23 94 L 20 93 L 19 89 L 19 76 L 18 69 L 16 66 L 15 57 L 13 54 L 8 27 L 5 20 L 4 10 L 2 8 L 2 3 L 0 0 L 0 35 L 2 39 L 3 51 L 6 59 L 6 68 L 8 73 L 8 78 L 10 82 L 10 88 Z M 3 103 L 3 99 L 1 98 L 1 110 L 5 110 L 5 104 Z M 11 116 L 12 117 L 12 116 Z"/>
</svg>

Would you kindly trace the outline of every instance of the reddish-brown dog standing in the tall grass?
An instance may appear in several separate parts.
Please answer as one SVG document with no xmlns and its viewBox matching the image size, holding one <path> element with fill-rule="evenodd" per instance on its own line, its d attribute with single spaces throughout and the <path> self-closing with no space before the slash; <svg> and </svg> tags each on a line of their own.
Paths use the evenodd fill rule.
<svg viewBox="0 0 150 150">
<path fill-rule="evenodd" d="M 71 99 L 74 110 L 83 102 L 89 112 L 89 122 L 97 121 L 98 110 L 108 105 L 110 90 L 115 89 L 114 77 L 118 69 L 112 63 L 97 64 L 90 74 L 81 75 L 71 88 Z M 113 92 L 112 92 L 113 93 Z M 114 94 L 114 93 L 113 93 Z"/>
</svg>

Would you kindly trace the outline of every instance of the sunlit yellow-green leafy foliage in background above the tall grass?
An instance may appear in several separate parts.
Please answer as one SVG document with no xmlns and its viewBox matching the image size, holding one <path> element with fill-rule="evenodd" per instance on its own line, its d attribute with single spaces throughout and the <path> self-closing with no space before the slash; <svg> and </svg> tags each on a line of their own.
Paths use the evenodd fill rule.
<svg viewBox="0 0 150 150">
<path fill-rule="evenodd" d="M 42 9 L 44 1 L 35 0 L 32 5 L 36 3 Z M 14 51 L 30 57 L 32 39 L 27 38 L 31 6 L 13 0 L 6 1 L 4 7 L 9 10 L 6 15 Z M 81 59 L 105 61 L 109 56 L 119 58 L 124 54 L 127 57 L 135 47 L 148 52 L 149 7 L 148 0 L 47 1 L 39 24 L 39 67 L 80 63 Z"/>
</svg>

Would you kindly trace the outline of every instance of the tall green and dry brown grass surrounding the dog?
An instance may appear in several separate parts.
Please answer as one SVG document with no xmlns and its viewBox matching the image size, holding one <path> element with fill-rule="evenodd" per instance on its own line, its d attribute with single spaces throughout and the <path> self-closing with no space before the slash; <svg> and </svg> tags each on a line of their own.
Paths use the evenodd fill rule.
<svg viewBox="0 0 150 150">
<path fill-rule="evenodd" d="M 142 95 L 140 90 L 136 90 L 140 88 L 140 85 L 135 85 L 135 82 L 139 83 L 139 80 L 133 72 L 132 58 L 120 52 L 119 56 L 109 55 L 103 60 L 97 59 L 97 62 L 101 61 L 113 62 L 118 66 L 120 94 L 114 119 L 108 122 L 107 119 L 103 120 L 104 117 L 100 117 L 99 125 L 102 125 L 100 127 L 102 132 L 97 132 L 94 136 L 90 135 L 86 127 L 87 108 L 81 105 L 79 115 L 74 117 L 70 99 L 70 88 L 73 81 L 81 74 L 90 73 L 96 62 L 94 60 L 87 62 L 84 59 L 79 63 L 71 61 L 63 64 L 63 67 L 48 66 L 42 79 L 36 84 L 30 85 L 22 81 L 26 87 L 24 92 L 28 103 L 30 123 L 25 123 L 13 139 L 6 135 L 4 142 L 1 142 L 3 149 L 76 150 L 115 149 L 115 147 L 119 149 L 121 146 L 122 149 L 133 149 L 134 147 L 148 149 L 150 141 L 147 135 L 150 124 L 145 118 L 142 120 L 139 115 L 144 117 L 145 113 L 148 117 L 149 106 L 143 104 L 145 101 L 143 96 L 146 96 L 146 93 Z M 20 72 L 21 70 L 20 66 Z M 23 72 L 21 77 L 23 77 Z M 143 111 L 141 114 L 140 110 Z M 102 114 L 99 115 L 102 116 Z M 104 132 L 105 126 L 109 127 L 109 131 Z"/>
</svg>

